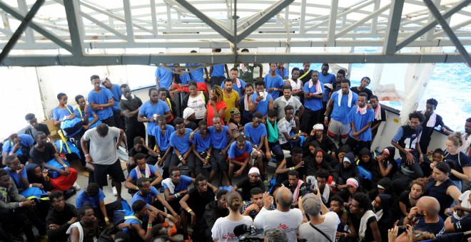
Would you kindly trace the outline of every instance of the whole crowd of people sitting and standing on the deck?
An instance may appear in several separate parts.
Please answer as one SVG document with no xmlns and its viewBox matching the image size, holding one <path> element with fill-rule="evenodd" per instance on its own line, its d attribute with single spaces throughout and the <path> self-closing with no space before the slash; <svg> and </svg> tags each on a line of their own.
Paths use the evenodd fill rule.
<svg viewBox="0 0 471 242">
<path fill-rule="evenodd" d="M 327 63 L 290 78 L 283 63 L 264 78 L 260 64 L 197 65 L 157 68 L 145 102 L 98 75 L 75 109 L 59 93 L 51 117 L 61 140 L 26 115 L 29 126 L 2 148 L 0 239 L 35 241 L 32 226 L 74 242 L 238 241 L 246 230 L 265 241 L 411 241 L 471 228 L 471 118 L 453 132 L 431 98 L 372 152 L 386 115 L 368 77 L 350 87 Z M 449 135 L 445 150 L 429 147 L 436 127 Z M 73 159 L 89 176 L 69 204 L 81 189 Z"/>
</svg>

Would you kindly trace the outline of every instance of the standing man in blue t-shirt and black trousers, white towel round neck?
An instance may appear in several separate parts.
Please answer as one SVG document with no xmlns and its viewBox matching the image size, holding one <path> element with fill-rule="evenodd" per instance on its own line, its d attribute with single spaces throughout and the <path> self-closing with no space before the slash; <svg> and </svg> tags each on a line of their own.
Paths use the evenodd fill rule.
<svg viewBox="0 0 471 242">
<path fill-rule="evenodd" d="M 301 130 L 310 132 L 315 123 L 318 122 L 323 107 L 322 100 L 324 98 L 324 88 L 319 81 L 319 72 L 313 70 L 311 79 L 304 83 L 304 105 L 306 107 L 303 113 L 303 126 Z"/>
</svg>

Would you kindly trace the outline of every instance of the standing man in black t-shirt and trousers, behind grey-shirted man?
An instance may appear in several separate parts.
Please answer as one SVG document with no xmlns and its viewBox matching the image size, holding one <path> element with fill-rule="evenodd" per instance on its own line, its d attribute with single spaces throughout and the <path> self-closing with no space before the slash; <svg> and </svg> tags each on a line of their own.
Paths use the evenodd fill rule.
<svg viewBox="0 0 471 242">
<path fill-rule="evenodd" d="M 126 124 L 126 144 L 133 144 L 136 137 L 146 137 L 146 126 L 138 121 L 139 108 L 142 105 L 141 98 L 131 94 L 128 84 L 121 85 L 121 102 L 119 109 L 123 112 Z"/>
</svg>

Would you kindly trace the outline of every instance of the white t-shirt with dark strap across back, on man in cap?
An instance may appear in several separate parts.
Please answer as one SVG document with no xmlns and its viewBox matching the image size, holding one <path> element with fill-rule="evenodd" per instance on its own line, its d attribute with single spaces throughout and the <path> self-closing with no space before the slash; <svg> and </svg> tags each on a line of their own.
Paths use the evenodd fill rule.
<svg viewBox="0 0 471 242">
<path fill-rule="evenodd" d="M 310 226 L 309 223 L 310 222 L 303 223 L 299 226 L 299 238 L 307 241 L 329 242 L 325 236 Z M 330 211 L 325 214 L 324 222 L 315 225 L 315 227 L 319 228 L 320 231 L 323 231 L 326 236 L 329 236 L 330 241 L 335 241 L 335 233 L 337 232 L 337 226 L 339 223 L 340 219 L 338 218 L 338 215 L 335 214 L 335 212 Z"/>
</svg>

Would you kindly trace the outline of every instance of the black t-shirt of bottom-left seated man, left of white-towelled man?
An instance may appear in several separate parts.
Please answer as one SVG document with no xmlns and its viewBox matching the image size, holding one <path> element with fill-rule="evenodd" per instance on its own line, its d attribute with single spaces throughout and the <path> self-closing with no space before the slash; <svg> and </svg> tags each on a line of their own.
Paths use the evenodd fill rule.
<svg viewBox="0 0 471 242">
<path fill-rule="evenodd" d="M 64 204 L 64 211 L 58 212 L 56 209 L 49 209 L 49 214 L 46 216 L 46 229 L 49 241 L 65 242 L 68 241 L 69 235 L 66 234 L 69 225 L 66 225 L 73 217 L 77 216 L 77 209 L 72 204 Z M 49 229 L 50 224 L 57 224 L 58 229 Z"/>
</svg>

